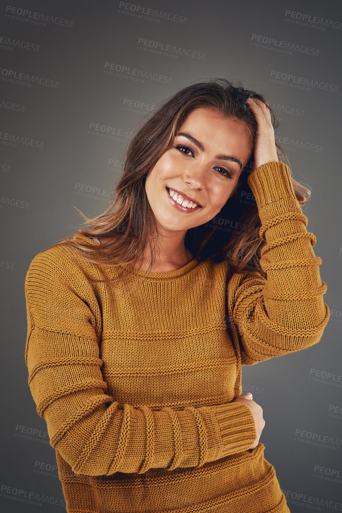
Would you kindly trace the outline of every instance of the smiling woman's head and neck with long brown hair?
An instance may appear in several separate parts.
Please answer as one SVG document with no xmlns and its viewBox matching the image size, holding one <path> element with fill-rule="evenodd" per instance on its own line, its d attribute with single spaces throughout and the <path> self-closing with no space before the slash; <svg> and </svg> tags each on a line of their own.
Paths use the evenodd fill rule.
<svg viewBox="0 0 342 513">
<path fill-rule="evenodd" d="M 286 153 L 274 141 L 279 121 L 272 109 L 269 133 L 257 136 L 255 102 L 265 106 L 266 99 L 225 79 L 175 93 L 149 114 L 130 142 L 113 204 L 93 219 L 81 212 L 88 224 L 77 230 L 82 241 L 65 238 L 58 245 L 72 247 L 94 264 L 100 259 L 104 266 L 118 267 L 121 277 L 129 267 L 146 275 L 174 270 L 193 256 L 227 260 L 236 272 L 247 266 L 264 274 L 259 260 L 265 241 L 258 235 L 261 223 L 248 183 L 252 170 L 264 163 L 254 162 L 257 137 L 263 137 L 259 147 L 264 150 L 271 143 L 267 162 Z M 304 205 L 310 190 L 287 169 L 298 204 Z M 180 214 L 169 200 L 163 209 L 166 187 L 202 201 L 204 208 L 191 213 L 180 208 Z M 91 237 L 99 240 L 98 247 Z"/>
</svg>

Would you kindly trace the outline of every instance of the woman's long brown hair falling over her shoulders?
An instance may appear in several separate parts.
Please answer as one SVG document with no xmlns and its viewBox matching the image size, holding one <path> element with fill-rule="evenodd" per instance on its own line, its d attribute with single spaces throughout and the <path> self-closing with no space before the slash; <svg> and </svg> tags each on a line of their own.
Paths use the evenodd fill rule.
<svg viewBox="0 0 342 513">
<path fill-rule="evenodd" d="M 92 219 L 77 209 L 86 220 L 84 224 L 88 228 L 79 228 L 76 233 L 105 238 L 106 243 L 83 243 L 80 240 L 71 240 L 72 235 L 53 246 L 70 246 L 88 262 L 120 266 L 122 269 L 127 269 L 125 264 L 135 267 L 149 246 L 152 257 L 148 274 L 156 261 L 158 241 L 155 217 L 145 191 L 146 175 L 172 145 L 173 138 L 187 115 L 197 107 L 207 106 L 224 116 L 245 123 L 251 135 L 252 151 L 235 185 L 234 193 L 225 206 L 212 222 L 190 228 L 185 235 L 185 245 L 199 260 L 228 260 L 232 272 L 250 268 L 265 276 L 259 260 L 260 251 L 266 243 L 259 236 L 261 223 L 258 209 L 255 201 L 251 201 L 253 194 L 247 183 L 253 167 L 257 129 L 254 114 L 246 104 L 249 97 L 267 103 L 263 94 L 244 89 L 240 82 L 234 85 L 225 78 L 190 84 L 170 96 L 146 116 L 146 120 L 129 143 L 122 176 L 116 186 L 112 187 L 112 191 L 116 192 L 112 205 Z M 272 125 L 276 129 L 280 126 L 280 121 L 271 106 L 269 108 L 271 117 L 273 116 Z M 285 150 L 277 142 L 275 145 L 278 160 L 290 168 L 297 201 L 299 205 L 304 205 L 310 198 L 311 191 L 292 178 Z"/>
</svg>

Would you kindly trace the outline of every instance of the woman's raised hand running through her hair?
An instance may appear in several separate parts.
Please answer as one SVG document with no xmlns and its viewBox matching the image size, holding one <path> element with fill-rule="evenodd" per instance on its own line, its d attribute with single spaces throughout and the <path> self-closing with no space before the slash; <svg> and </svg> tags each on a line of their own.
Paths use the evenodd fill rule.
<svg viewBox="0 0 342 513">
<path fill-rule="evenodd" d="M 257 123 L 254 164 L 252 168 L 254 170 L 263 164 L 278 162 L 278 155 L 269 108 L 266 107 L 264 102 L 257 100 L 257 98 L 248 98 L 246 103 L 253 112 Z"/>
</svg>

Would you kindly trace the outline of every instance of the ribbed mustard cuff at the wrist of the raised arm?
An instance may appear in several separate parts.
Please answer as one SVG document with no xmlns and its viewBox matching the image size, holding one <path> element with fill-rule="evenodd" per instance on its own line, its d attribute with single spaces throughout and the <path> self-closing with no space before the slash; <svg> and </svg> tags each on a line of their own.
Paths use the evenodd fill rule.
<svg viewBox="0 0 342 513">
<path fill-rule="evenodd" d="M 296 196 L 291 182 L 290 168 L 284 162 L 269 162 L 254 169 L 247 179 L 258 208 Z"/>
</svg>

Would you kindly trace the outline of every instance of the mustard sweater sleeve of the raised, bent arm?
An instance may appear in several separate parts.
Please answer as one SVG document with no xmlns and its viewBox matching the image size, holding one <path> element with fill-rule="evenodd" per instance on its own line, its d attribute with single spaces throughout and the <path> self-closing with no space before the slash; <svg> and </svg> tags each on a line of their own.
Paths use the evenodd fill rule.
<svg viewBox="0 0 342 513">
<path fill-rule="evenodd" d="M 257 271 L 233 274 L 228 285 L 232 324 L 238 332 L 242 364 L 307 348 L 319 342 L 329 320 L 312 246 L 313 233 L 296 199 L 289 167 L 282 162 L 259 166 L 248 177 L 266 241 Z"/>
</svg>

